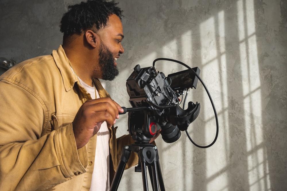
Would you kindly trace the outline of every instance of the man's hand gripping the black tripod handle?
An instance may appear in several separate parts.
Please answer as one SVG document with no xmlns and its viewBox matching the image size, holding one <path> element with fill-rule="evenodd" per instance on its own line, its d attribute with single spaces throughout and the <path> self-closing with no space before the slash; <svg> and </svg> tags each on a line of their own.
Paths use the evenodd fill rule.
<svg viewBox="0 0 287 191">
<path fill-rule="evenodd" d="M 73 121 L 73 131 L 77 149 L 88 143 L 98 133 L 101 124 L 106 121 L 111 127 L 119 119 L 123 109 L 110 98 L 99 98 L 86 101 L 77 112 Z"/>
</svg>

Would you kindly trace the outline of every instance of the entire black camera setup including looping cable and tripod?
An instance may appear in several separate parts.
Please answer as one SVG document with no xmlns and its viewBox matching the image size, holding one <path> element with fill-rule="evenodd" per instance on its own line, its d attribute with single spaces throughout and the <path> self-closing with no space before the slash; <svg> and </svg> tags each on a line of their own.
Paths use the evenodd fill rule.
<svg viewBox="0 0 287 191">
<path fill-rule="evenodd" d="M 168 60 L 186 66 L 188 70 L 169 74 L 167 77 L 158 72 L 155 62 L 158 60 Z M 119 165 L 116 170 L 110 190 L 116 191 L 123 171 L 129 160 L 131 152 L 136 152 L 139 157 L 139 166 L 135 172 L 141 172 L 144 190 L 148 190 L 147 171 L 148 167 L 153 190 L 165 190 L 163 178 L 160 170 L 158 149 L 155 145 L 149 144 L 150 138 L 156 135 L 161 129 L 162 138 L 167 143 L 177 141 L 181 136 L 181 131 L 185 131 L 190 141 L 197 147 L 207 148 L 212 146 L 218 137 L 218 118 L 214 103 L 207 90 L 207 87 L 199 77 L 199 68 L 190 68 L 186 64 L 168 58 L 158 58 L 154 60 L 152 67 L 141 68 L 135 66 L 134 71 L 127 79 L 127 92 L 130 96 L 131 108 L 125 108 L 123 113 L 129 112 L 128 131 L 135 144 L 125 145 L 122 149 Z M 200 80 L 205 88 L 216 118 L 216 136 L 214 141 L 207 146 L 197 145 L 189 136 L 187 127 L 192 123 L 200 111 L 199 103 L 188 103 L 188 108 L 184 110 L 189 88 L 196 88 L 197 81 Z M 188 89 L 188 90 L 187 90 Z M 179 96 L 187 90 L 183 108 L 179 106 Z"/>
</svg>

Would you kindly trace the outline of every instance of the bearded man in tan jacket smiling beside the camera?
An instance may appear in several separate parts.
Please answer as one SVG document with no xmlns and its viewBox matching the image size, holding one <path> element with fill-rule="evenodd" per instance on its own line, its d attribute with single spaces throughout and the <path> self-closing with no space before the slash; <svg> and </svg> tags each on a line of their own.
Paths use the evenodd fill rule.
<svg viewBox="0 0 287 191">
<path fill-rule="evenodd" d="M 117 3 L 69 6 L 63 46 L 0 77 L 0 190 L 108 190 L 121 150 L 123 109 L 98 78 L 113 80 L 124 52 Z M 154 140 L 154 139 L 153 139 Z M 137 164 L 132 153 L 126 168 Z"/>
</svg>

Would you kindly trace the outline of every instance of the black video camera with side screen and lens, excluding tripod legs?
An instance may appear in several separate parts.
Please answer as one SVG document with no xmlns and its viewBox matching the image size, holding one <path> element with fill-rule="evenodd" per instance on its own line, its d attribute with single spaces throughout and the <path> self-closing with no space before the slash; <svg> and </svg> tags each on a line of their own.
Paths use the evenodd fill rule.
<svg viewBox="0 0 287 191">
<path fill-rule="evenodd" d="M 198 67 L 192 68 L 199 75 Z M 135 143 L 149 143 L 161 129 L 167 143 L 177 141 L 200 111 L 199 103 L 188 103 L 186 110 L 179 106 L 179 96 L 188 88 L 196 88 L 198 78 L 190 70 L 169 74 L 158 72 L 155 66 L 136 65 L 126 82 L 129 102 L 128 131 Z"/>
</svg>

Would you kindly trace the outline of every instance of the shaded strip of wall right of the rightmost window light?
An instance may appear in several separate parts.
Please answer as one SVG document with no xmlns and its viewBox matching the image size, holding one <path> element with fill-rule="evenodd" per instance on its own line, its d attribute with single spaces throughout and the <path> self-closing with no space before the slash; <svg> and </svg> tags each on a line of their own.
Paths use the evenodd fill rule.
<svg viewBox="0 0 287 191">
<path fill-rule="evenodd" d="M 270 181 L 270 190 L 286 190 L 287 1 L 272 4 L 261 2 L 255 7 L 264 132 L 261 147 L 266 148 L 262 157 L 267 161 L 261 178 Z"/>
</svg>

